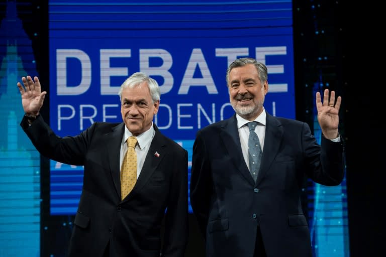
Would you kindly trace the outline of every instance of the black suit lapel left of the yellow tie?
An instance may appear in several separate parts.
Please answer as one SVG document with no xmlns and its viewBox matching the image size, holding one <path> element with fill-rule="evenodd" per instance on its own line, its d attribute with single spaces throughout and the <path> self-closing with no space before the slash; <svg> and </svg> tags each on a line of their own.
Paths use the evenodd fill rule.
<svg viewBox="0 0 386 257">
<path fill-rule="evenodd" d="M 113 179 L 114 188 L 119 195 L 119 199 L 121 199 L 121 168 L 119 167 L 119 157 L 124 129 L 125 123 L 123 122 L 113 127 L 113 131 L 106 135 L 104 141 L 104 145 L 107 146 L 111 177 Z"/>
</svg>

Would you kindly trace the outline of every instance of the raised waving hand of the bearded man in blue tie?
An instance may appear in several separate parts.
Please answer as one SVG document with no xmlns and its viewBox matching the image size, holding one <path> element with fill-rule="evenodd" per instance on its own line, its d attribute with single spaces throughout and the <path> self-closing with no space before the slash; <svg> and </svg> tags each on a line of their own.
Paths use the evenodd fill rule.
<svg viewBox="0 0 386 257">
<path fill-rule="evenodd" d="M 331 91 L 329 99 L 328 89 L 324 90 L 323 102 L 320 93 L 316 93 L 316 108 L 318 110 L 318 121 L 322 133 L 327 139 L 338 137 L 339 108 L 342 97 L 338 96 L 335 102 L 335 91 Z"/>
</svg>

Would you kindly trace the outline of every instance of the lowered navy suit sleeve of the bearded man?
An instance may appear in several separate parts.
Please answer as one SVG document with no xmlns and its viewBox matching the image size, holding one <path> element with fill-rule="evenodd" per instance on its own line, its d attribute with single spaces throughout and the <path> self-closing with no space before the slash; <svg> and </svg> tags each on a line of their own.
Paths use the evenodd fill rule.
<svg viewBox="0 0 386 257">
<path fill-rule="evenodd" d="M 206 238 L 209 208 L 212 195 L 212 176 L 208 162 L 205 140 L 200 132 L 193 145 L 193 156 L 190 176 L 190 205 L 197 218 L 200 230 Z"/>
</svg>

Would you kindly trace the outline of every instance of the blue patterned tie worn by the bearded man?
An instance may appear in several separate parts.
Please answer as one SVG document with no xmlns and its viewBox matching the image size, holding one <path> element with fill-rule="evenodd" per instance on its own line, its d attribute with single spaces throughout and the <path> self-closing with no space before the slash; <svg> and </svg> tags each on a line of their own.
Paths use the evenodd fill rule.
<svg viewBox="0 0 386 257">
<path fill-rule="evenodd" d="M 249 157 L 249 171 L 254 181 L 256 181 L 257 173 L 260 169 L 261 162 L 261 147 L 259 137 L 255 133 L 257 121 L 249 122 L 249 139 L 248 139 L 248 157 Z"/>
</svg>

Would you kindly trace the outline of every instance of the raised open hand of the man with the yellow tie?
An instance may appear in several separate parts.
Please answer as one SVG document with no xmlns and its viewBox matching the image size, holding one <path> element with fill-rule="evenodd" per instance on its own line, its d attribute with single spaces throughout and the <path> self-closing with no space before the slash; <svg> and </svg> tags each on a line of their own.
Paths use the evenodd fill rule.
<svg viewBox="0 0 386 257">
<path fill-rule="evenodd" d="M 32 80 L 31 76 L 22 77 L 22 81 L 24 86 L 18 82 L 18 88 L 22 95 L 24 112 L 37 116 L 43 106 L 44 97 L 47 92 L 42 92 L 38 77 L 34 77 L 34 80 Z"/>
</svg>

